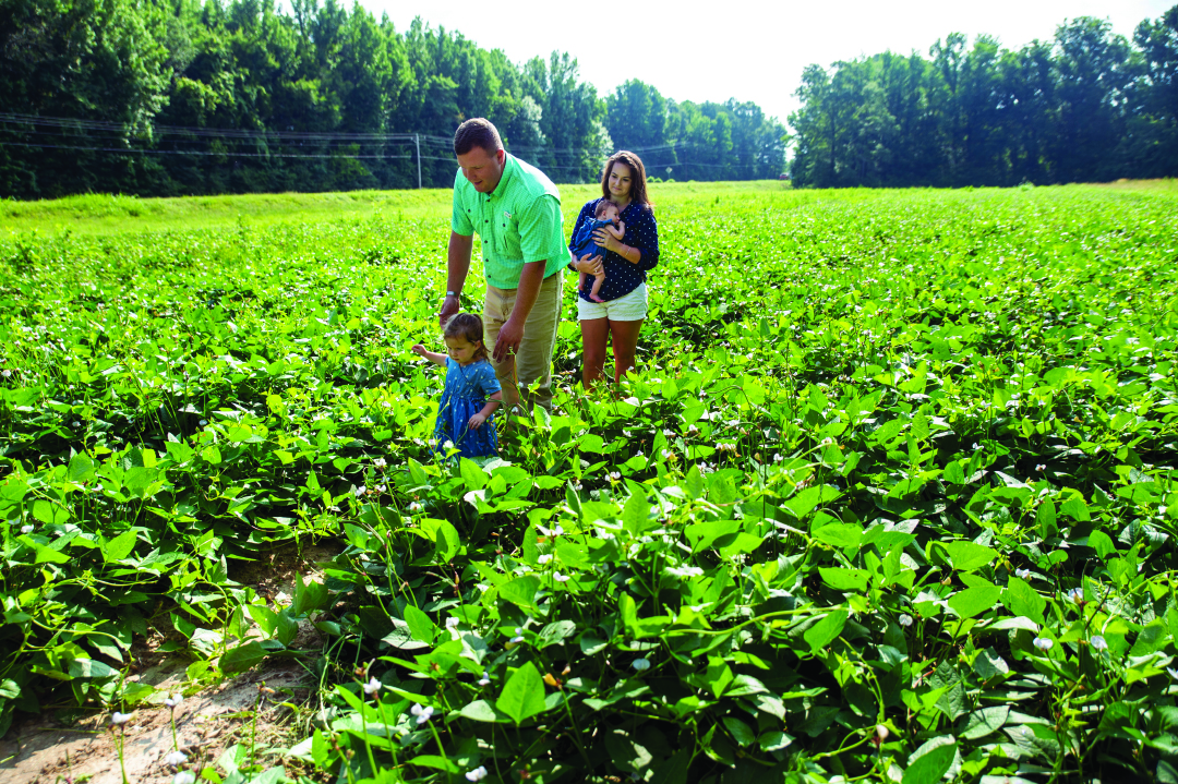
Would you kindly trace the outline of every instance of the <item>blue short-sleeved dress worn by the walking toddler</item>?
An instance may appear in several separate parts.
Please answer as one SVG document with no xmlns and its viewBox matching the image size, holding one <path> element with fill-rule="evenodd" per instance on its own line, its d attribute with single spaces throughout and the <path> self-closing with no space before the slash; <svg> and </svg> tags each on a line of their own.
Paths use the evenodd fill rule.
<svg viewBox="0 0 1178 784">
<path fill-rule="evenodd" d="M 483 410 L 487 398 L 499 391 L 495 368 L 485 359 L 465 367 L 446 357 L 445 390 L 438 404 L 438 421 L 434 427 L 436 452 L 445 454 L 445 443 L 454 441 L 462 457 L 490 457 L 498 454 L 495 438 L 495 420 L 490 417 L 483 426 L 468 427 L 470 418 Z"/>
</svg>

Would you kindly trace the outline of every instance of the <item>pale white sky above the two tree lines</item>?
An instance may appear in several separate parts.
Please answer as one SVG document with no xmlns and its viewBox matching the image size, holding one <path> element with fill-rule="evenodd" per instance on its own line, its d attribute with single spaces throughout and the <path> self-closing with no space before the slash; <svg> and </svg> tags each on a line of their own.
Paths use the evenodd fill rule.
<svg viewBox="0 0 1178 784">
<path fill-rule="evenodd" d="M 413 16 L 458 31 L 512 61 L 569 52 L 581 77 L 611 93 L 641 79 L 676 101 L 755 101 L 782 122 L 798 108 L 802 68 L 891 49 L 927 57 L 953 32 L 998 38 L 1005 48 L 1050 40 L 1065 19 L 1097 16 L 1132 40 L 1143 19 L 1178 0 L 843 0 L 842 2 L 552 2 L 552 0 L 359 0 L 398 32 Z"/>
</svg>

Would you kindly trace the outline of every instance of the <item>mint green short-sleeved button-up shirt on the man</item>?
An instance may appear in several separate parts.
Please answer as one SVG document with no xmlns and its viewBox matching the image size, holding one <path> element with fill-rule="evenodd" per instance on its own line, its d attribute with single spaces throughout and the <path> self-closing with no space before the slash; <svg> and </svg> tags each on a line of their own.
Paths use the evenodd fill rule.
<svg viewBox="0 0 1178 784">
<path fill-rule="evenodd" d="M 561 192 L 535 166 L 508 153 L 503 178 L 492 193 L 475 190 L 462 170 L 454 178 L 450 228 L 483 240 L 483 272 L 497 288 L 518 288 L 530 261 L 548 261 L 544 277 L 569 263 L 561 215 Z"/>
</svg>

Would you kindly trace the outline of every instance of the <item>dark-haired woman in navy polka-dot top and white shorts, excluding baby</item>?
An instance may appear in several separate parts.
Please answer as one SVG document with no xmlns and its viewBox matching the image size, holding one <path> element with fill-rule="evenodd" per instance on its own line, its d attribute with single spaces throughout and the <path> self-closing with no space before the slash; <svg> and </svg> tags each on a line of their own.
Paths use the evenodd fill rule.
<svg viewBox="0 0 1178 784">
<path fill-rule="evenodd" d="M 638 332 L 647 318 L 647 271 L 659 264 L 659 225 L 654 205 L 647 198 L 647 171 L 642 159 L 622 151 L 610 155 L 601 177 L 601 199 L 593 199 L 581 207 L 573 235 L 587 220 L 593 220 L 597 204 L 613 201 L 621 210 L 626 225 L 621 239 L 604 230 L 594 234 L 598 253 L 577 258 L 569 248 L 570 268 L 584 272 L 585 283 L 577 298 L 583 353 L 582 380 L 585 387 L 605 378 L 605 347 L 614 347 L 614 381 L 634 367 L 634 352 Z M 593 275 L 604 271 L 605 283 L 598 295 L 590 298 Z"/>
</svg>

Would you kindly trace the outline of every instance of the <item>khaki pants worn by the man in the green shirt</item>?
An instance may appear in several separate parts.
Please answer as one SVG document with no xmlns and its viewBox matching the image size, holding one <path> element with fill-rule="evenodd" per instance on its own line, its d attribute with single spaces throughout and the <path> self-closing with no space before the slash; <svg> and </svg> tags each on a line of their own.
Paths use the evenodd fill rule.
<svg viewBox="0 0 1178 784">
<path fill-rule="evenodd" d="M 556 347 L 556 327 L 561 321 L 561 299 L 564 295 L 562 271 L 557 270 L 540 286 L 536 304 L 531 306 L 528 320 L 523 323 L 523 341 L 515 356 L 515 361 L 508 359 L 495 366 L 495 377 L 503 387 L 505 406 L 519 399 L 519 392 L 511 394 L 510 390 L 522 391 L 524 403 L 530 410 L 537 403 L 545 408 L 552 407 L 552 350 Z M 496 288 L 487 285 L 487 303 L 483 305 L 483 339 L 488 351 L 495 351 L 495 340 L 499 328 L 511 315 L 515 307 L 515 288 Z M 535 391 L 529 387 L 540 383 Z"/>
</svg>

